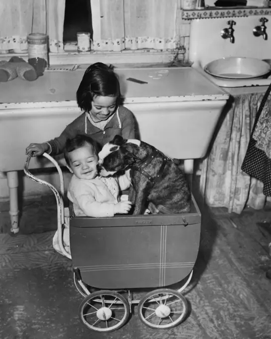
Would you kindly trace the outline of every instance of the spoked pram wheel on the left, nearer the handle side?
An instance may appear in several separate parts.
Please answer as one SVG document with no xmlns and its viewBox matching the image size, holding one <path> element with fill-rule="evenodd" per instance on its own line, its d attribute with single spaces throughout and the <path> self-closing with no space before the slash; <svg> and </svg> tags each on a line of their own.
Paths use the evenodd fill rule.
<svg viewBox="0 0 271 339">
<path fill-rule="evenodd" d="M 96 332 L 111 332 L 121 328 L 128 320 L 128 301 L 114 291 L 97 291 L 87 296 L 79 307 L 84 325 Z"/>
</svg>

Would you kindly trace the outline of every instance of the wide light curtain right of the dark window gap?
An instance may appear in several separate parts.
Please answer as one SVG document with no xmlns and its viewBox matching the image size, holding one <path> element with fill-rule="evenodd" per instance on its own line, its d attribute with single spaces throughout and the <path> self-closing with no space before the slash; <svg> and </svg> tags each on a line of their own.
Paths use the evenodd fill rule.
<svg viewBox="0 0 271 339">
<path fill-rule="evenodd" d="M 176 47 L 178 0 L 91 0 L 94 50 Z"/>
</svg>

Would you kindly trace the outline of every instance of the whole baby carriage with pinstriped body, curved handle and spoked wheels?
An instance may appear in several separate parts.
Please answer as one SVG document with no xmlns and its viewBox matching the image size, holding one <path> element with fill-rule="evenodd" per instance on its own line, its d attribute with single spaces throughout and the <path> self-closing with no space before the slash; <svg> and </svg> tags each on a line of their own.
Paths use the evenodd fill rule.
<svg viewBox="0 0 271 339">
<path fill-rule="evenodd" d="M 84 297 L 79 317 L 89 329 L 111 332 L 121 328 L 138 304 L 139 319 L 153 329 L 169 329 L 187 316 L 188 286 L 197 258 L 201 214 L 192 196 L 191 210 L 183 214 L 115 215 L 110 218 L 75 216 L 64 209 L 64 180 L 58 163 L 60 193 L 50 183 L 32 175 L 29 154 L 24 172 L 47 185 L 57 201 L 58 242 L 61 253 L 72 260 L 74 283 Z M 63 246 L 63 229 L 69 227 L 70 253 Z M 185 281 L 177 290 L 170 285 Z M 144 294 L 134 300 L 133 294 Z M 133 291 L 133 292 L 132 292 Z"/>
</svg>

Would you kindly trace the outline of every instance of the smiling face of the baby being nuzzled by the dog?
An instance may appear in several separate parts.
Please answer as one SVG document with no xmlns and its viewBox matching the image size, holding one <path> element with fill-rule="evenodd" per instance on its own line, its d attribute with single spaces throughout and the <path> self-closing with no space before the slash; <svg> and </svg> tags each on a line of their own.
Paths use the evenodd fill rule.
<svg viewBox="0 0 271 339">
<path fill-rule="evenodd" d="M 97 176 L 98 156 L 92 145 L 69 152 L 70 169 L 79 179 L 91 180 Z"/>
</svg>

